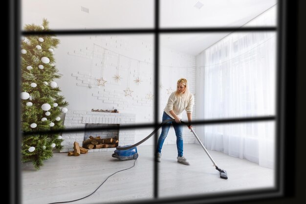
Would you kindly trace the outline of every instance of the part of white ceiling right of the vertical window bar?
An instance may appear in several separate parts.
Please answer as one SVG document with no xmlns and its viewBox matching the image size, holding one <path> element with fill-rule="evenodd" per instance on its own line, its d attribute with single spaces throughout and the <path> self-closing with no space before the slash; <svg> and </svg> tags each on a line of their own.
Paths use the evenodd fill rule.
<svg viewBox="0 0 306 204">
<path fill-rule="evenodd" d="M 200 1 L 203 6 L 194 5 Z M 161 0 L 161 27 L 242 26 L 276 4 L 276 0 Z M 276 11 L 276 9 L 275 9 Z M 272 21 L 273 22 L 273 21 Z M 262 26 L 275 26 L 265 24 Z M 163 34 L 160 45 L 198 55 L 230 32 Z"/>
</svg>

